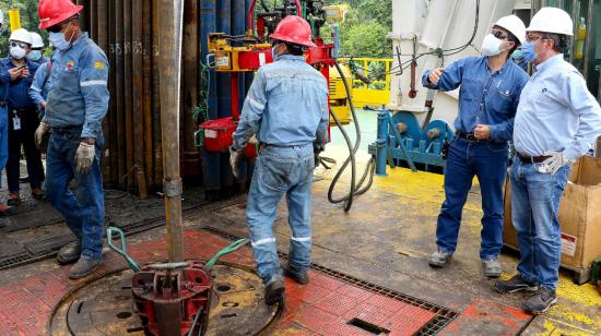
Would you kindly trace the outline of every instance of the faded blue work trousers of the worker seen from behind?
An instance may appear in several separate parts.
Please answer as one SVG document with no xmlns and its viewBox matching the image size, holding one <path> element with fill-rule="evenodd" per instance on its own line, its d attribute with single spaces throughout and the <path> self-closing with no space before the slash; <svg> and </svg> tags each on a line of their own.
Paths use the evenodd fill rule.
<svg viewBox="0 0 601 336">
<path fill-rule="evenodd" d="M 263 284 L 282 277 L 273 235 L 278 204 L 285 194 L 292 230 L 288 263 L 296 272 L 310 265 L 313 144 L 263 146 L 248 193 L 246 218 L 257 272 Z"/>
</svg>

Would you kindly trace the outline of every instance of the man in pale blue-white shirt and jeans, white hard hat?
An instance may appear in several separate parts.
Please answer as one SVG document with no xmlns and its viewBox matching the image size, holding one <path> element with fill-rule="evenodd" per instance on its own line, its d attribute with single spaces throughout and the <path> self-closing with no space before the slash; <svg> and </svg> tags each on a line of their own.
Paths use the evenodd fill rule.
<svg viewBox="0 0 601 336">
<path fill-rule="evenodd" d="M 503 293 L 535 291 L 525 303 L 525 310 L 534 314 L 557 301 L 562 256 L 557 214 L 569 163 L 601 135 L 599 104 L 561 53 L 569 46 L 573 27 L 568 13 L 543 8 L 532 17 L 523 46 L 535 72 L 521 93 L 514 129 L 511 218 L 520 262 L 518 274 L 495 287 Z"/>
</svg>

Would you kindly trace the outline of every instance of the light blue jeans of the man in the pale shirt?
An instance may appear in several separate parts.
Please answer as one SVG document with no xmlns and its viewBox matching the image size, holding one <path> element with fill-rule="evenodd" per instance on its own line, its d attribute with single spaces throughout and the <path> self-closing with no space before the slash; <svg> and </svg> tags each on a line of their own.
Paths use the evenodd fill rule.
<svg viewBox="0 0 601 336">
<path fill-rule="evenodd" d="M 518 233 L 518 272 L 530 281 L 557 287 L 562 237 L 557 212 L 570 166 L 554 175 L 540 173 L 539 164 L 516 159 L 511 166 L 511 219 Z"/>
</svg>

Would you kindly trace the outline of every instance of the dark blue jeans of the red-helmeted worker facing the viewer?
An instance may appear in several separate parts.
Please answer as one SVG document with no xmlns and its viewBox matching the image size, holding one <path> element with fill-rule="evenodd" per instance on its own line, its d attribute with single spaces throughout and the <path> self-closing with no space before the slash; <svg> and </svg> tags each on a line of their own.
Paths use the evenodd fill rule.
<svg viewBox="0 0 601 336">
<path fill-rule="evenodd" d="M 101 259 L 104 233 L 104 191 L 99 155 L 102 135 L 96 140 L 96 157 L 89 173 L 75 171 L 75 152 L 80 145 L 81 129 L 52 130 L 46 156 L 46 193 L 52 206 L 61 213 L 67 226 L 80 239 L 82 255 Z M 69 189 L 72 179 L 78 182 L 76 194 Z"/>
</svg>

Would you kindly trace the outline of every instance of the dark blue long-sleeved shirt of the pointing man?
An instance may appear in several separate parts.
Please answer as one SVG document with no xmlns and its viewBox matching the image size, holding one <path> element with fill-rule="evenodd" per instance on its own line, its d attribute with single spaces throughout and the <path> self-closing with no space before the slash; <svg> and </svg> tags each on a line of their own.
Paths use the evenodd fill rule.
<svg viewBox="0 0 601 336">
<path fill-rule="evenodd" d="M 471 133 L 476 124 L 487 124 L 491 141 L 511 140 L 520 93 L 528 82 L 528 74 L 515 62 L 509 60 L 499 71 L 492 72 L 487 57 L 463 58 L 445 68 L 437 84 L 429 83 L 431 72 L 422 76 L 425 87 L 446 92 L 461 85 L 457 131 Z"/>
</svg>

